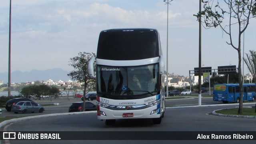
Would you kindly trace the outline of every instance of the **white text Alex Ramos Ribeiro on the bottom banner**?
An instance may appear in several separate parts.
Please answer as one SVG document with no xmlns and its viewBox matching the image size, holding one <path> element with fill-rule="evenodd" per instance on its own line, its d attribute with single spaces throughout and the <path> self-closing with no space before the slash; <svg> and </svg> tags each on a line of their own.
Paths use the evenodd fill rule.
<svg viewBox="0 0 256 144">
<path fill-rule="evenodd" d="M 216 135 L 216 134 L 211 134 L 211 135 L 204 135 L 204 134 L 198 134 L 196 139 L 200 140 L 252 140 L 253 136 L 252 135 L 242 135 L 242 134 L 233 134 L 233 135 Z"/>
</svg>

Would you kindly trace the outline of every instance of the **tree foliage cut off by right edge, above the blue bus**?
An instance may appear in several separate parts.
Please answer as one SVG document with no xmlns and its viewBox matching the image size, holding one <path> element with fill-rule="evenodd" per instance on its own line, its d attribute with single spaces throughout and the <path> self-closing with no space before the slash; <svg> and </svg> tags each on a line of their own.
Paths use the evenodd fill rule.
<svg viewBox="0 0 256 144">
<path fill-rule="evenodd" d="M 246 63 L 247 67 L 249 68 L 254 82 L 256 82 L 256 51 L 250 50 L 249 52 L 250 52 L 250 54 L 246 54 L 248 59 L 247 60 L 244 59 L 244 62 Z"/>
</svg>

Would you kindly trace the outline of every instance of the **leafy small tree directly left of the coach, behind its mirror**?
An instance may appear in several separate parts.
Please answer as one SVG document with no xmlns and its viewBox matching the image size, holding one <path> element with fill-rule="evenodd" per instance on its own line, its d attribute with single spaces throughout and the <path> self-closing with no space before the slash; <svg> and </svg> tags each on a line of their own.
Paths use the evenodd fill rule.
<svg viewBox="0 0 256 144">
<path fill-rule="evenodd" d="M 96 79 L 92 78 L 88 74 L 88 64 L 92 58 L 96 57 L 94 53 L 87 53 L 87 52 L 79 52 L 78 56 L 74 58 L 70 58 L 69 66 L 74 67 L 74 70 L 68 74 L 72 80 L 77 80 L 84 84 L 84 106 L 83 111 L 85 111 L 85 94 L 87 85 L 91 82 L 95 82 Z M 96 65 L 96 64 L 95 64 Z M 96 68 L 94 66 L 94 68 Z M 88 90 L 90 91 L 90 90 Z"/>
</svg>

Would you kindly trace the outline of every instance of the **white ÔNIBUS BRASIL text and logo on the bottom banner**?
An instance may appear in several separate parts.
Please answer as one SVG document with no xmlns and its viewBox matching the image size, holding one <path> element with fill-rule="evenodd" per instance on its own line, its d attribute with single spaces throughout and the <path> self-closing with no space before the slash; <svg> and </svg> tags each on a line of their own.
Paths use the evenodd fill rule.
<svg viewBox="0 0 256 144">
<path fill-rule="evenodd" d="M 3 139 L 16 140 L 61 140 L 60 134 L 55 133 L 21 133 L 3 132 Z"/>
</svg>

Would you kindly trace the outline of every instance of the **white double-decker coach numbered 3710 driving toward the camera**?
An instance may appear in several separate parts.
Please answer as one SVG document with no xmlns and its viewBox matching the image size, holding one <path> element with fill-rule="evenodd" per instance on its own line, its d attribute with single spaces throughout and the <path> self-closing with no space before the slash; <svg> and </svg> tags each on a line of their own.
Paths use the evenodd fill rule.
<svg viewBox="0 0 256 144">
<path fill-rule="evenodd" d="M 164 58 L 156 29 L 100 32 L 96 58 L 97 115 L 107 125 L 116 119 L 164 117 Z"/>
</svg>

